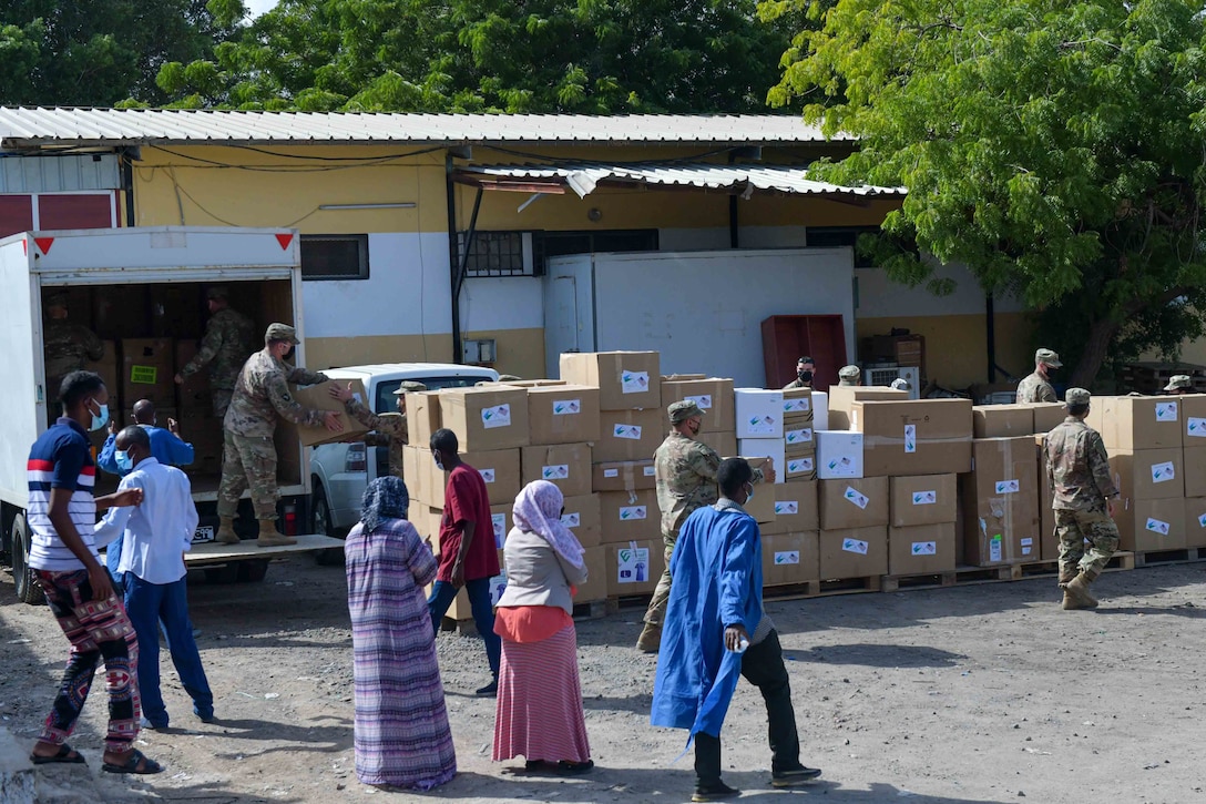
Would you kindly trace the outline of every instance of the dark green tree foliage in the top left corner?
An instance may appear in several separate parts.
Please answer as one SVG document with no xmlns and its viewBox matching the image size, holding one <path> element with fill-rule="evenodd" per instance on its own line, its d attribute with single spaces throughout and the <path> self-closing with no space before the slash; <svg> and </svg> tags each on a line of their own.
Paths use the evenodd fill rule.
<svg viewBox="0 0 1206 804">
<path fill-rule="evenodd" d="M 156 75 L 229 33 L 205 0 L 0 1 L 0 104 L 162 103 Z"/>
</svg>

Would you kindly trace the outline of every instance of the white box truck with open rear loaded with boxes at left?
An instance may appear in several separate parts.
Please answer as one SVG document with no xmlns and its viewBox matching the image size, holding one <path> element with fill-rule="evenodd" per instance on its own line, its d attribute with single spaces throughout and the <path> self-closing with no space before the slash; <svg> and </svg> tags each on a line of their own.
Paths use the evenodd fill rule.
<svg viewBox="0 0 1206 804">
<path fill-rule="evenodd" d="M 42 343 L 43 307 L 52 293 L 68 295 L 69 317 L 93 330 L 106 346 L 104 362 L 92 368 L 106 375 L 110 412 L 123 426 L 130 407 L 154 398 L 160 425 L 170 415 L 181 421 L 182 437 L 197 456 L 182 467 L 192 480 L 201 523 L 188 554 L 189 569 L 235 579 L 259 579 L 268 560 L 280 552 L 329 548 L 339 542 L 302 536 L 298 544 L 257 549 L 212 543 L 215 506 L 221 474 L 221 421 L 212 416 L 204 394 L 185 398 L 172 377 L 177 355 L 197 348 L 206 320 L 206 290 L 228 289 L 232 307 L 250 316 L 258 333 L 282 321 L 304 336 L 302 268 L 297 232 L 199 227 L 146 227 L 25 232 L 0 240 L 0 355 L 5 381 L 0 385 L 0 561 L 13 570 L 17 596 L 36 602 L 41 592 L 28 570 L 29 528 L 25 518 L 29 448 L 58 415 L 58 389 L 47 388 Z M 304 365 L 304 346 L 297 348 Z M 136 381 L 136 383 L 135 383 Z M 137 384 L 140 383 L 140 384 Z M 199 377 L 203 389 L 207 385 Z M 166 404 L 165 404 L 166 403 Z M 175 408 L 178 403 L 180 408 Z M 99 451 L 105 432 L 93 433 Z M 282 532 L 295 534 L 308 522 L 310 493 L 308 451 L 292 427 L 276 437 Z M 96 474 L 96 493 L 107 494 L 118 478 Z M 246 497 L 246 495 L 245 495 Z M 245 499 L 240 524 L 254 529 Z M 254 536 L 240 534 L 245 538 Z M 210 543 L 205 543 L 210 542 Z"/>
</svg>

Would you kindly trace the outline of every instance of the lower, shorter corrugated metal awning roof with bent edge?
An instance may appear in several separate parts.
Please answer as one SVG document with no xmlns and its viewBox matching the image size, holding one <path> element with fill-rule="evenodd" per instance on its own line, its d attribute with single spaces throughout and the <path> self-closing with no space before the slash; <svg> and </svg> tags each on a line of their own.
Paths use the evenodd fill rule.
<svg viewBox="0 0 1206 804">
<path fill-rule="evenodd" d="M 466 165 L 457 174 L 463 180 L 481 183 L 523 180 L 534 182 L 557 182 L 569 187 L 580 197 L 595 191 L 599 182 L 631 182 L 642 185 L 662 185 L 674 187 L 698 187 L 701 190 L 724 190 L 753 194 L 761 192 L 780 192 L 794 196 L 865 196 L 898 197 L 904 196 L 903 187 L 843 187 L 808 177 L 808 171 L 792 165 L 719 165 L 701 163 L 645 163 L 640 165 L 601 165 L 595 163 L 579 164 L 519 164 L 519 165 Z"/>
</svg>

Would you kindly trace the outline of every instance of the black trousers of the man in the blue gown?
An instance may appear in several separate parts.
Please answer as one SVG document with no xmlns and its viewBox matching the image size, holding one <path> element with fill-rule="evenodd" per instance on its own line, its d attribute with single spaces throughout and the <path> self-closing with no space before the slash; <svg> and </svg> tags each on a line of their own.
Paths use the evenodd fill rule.
<svg viewBox="0 0 1206 804">
<path fill-rule="evenodd" d="M 771 742 L 771 770 L 800 767 L 800 734 L 791 707 L 791 682 L 783 664 L 783 647 L 774 630 L 742 656 L 742 675 L 759 688 L 766 701 L 767 739 Z M 695 783 L 712 787 L 720 782 L 720 738 L 699 732 L 695 735 Z"/>
</svg>

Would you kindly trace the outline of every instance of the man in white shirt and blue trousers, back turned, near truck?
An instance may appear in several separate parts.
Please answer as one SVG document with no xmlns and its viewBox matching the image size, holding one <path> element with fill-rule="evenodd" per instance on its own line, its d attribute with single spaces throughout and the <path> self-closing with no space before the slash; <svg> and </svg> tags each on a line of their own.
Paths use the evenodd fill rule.
<svg viewBox="0 0 1206 804">
<path fill-rule="evenodd" d="M 198 519 L 188 477 L 151 455 L 151 438 L 142 427 L 125 427 L 117 433 L 117 460 L 131 467 L 118 489 L 141 489 L 142 505 L 110 509 L 96 523 L 95 536 L 123 536 L 118 570 L 125 575 L 125 611 L 139 637 L 142 726 L 168 728 L 168 709 L 159 692 L 160 622 L 166 631 L 171 663 L 193 699 L 193 712 L 210 723 L 213 721 L 213 693 L 193 639 L 185 588 L 188 572 L 185 553 L 192 548 Z"/>
</svg>

